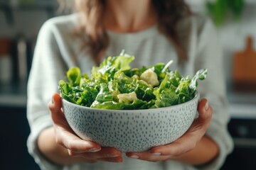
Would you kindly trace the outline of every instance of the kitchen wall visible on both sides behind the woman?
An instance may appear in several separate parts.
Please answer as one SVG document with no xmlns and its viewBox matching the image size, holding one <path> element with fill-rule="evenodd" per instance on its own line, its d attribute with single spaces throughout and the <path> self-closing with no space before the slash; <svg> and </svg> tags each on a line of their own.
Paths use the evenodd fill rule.
<svg viewBox="0 0 256 170">
<path fill-rule="evenodd" d="M 204 0 L 187 0 L 193 11 L 206 13 Z M 16 35 L 24 35 L 30 40 L 35 40 L 39 28 L 53 13 L 46 8 L 31 8 L 30 10 L 16 9 L 13 11 L 14 21 L 6 21 L 4 11 L 0 10 L 0 38 L 15 38 Z M 225 75 L 227 81 L 232 80 L 233 55 L 243 50 L 245 38 L 252 35 L 255 39 L 256 49 L 256 1 L 247 0 L 245 10 L 240 21 L 226 21 L 218 28 L 220 43 L 224 52 Z"/>
</svg>

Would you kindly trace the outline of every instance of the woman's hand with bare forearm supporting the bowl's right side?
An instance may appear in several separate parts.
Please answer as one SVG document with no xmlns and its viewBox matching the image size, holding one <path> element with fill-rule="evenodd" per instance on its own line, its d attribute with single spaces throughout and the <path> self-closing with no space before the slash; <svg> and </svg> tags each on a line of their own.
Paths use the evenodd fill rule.
<svg viewBox="0 0 256 170">
<path fill-rule="evenodd" d="M 198 104 L 199 117 L 187 132 L 169 145 L 151 148 L 147 152 L 127 153 L 127 157 L 149 162 L 176 159 L 189 164 L 203 164 L 218 154 L 218 146 L 205 136 L 210 125 L 213 109 L 202 99 Z"/>
</svg>

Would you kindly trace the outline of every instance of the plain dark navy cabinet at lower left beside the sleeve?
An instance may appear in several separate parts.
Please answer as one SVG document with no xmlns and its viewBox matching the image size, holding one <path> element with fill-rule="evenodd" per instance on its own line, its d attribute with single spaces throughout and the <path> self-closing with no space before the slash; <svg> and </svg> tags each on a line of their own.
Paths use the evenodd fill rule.
<svg viewBox="0 0 256 170">
<path fill-rule="evenodd" d="M 26 146 L 30 132 L 26 107 L 0 106 L 0 122 L 1 169 L 39 170 Z"/>
</svg>

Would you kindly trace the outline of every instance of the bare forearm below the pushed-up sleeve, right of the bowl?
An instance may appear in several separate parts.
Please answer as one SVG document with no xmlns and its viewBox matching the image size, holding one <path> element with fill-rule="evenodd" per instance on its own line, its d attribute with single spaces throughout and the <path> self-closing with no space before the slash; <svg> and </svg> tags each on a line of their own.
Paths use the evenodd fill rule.
<svg viewBox="0 0 256 170">
<path fill-rule="evenodd" d="M 218 145 L 208 136 L 203 136 L 198 145 L 176 160 L 193 165 L 207 164 L 218 156 Z"/>
</svg>

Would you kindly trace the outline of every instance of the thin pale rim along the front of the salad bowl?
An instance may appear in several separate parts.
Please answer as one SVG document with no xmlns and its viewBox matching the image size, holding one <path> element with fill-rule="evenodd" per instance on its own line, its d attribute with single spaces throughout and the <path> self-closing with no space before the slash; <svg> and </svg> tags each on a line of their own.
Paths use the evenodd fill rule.
<svg viewBox="0 0 256 170">
<path fill-rule="evenodd" d="M 86 108 L 87 110 L 90 110 L 90 111 L 112 111 L 112 112 L 122 112 L 122 113 L 124 113 L 124 111 L 125 111 L 126 113 L 129 113 L 129 112 L 135 113 L 135 112 L 142 112 L 142 111 L 158 111 L 159 109 L 161 109 L 161 111 L 163 111 L 163 110 L 165 111 L 165 110 L 168 110 L 170 108 L 181 107 L 183 105 L 192 103 L 195 100 L 199 101 L 200 94 L 199 94 L 198 91 L 195 91 L 194 98 L 192 98 L 190 101 L 186 101 L 185 103 L 181 103 L 181 104 L 177 104 L 177 105 L 173 105 L 173 106 L 161 107 L 161 108 L 147 108 L 147 109 L 137 109 L 137 110 L 129 110 L 129 109 L 127 109 L 127 110 L 118 110 L 118 109 L 115 110 L 115 109 L 105 109 L 105 108 L 90 108 L 90 107 L 87 107 L 87 106 L 80 106 L 78 104 L 67 101 L 65 98 L 63 98 L 63 96 L 61 94 L 60 94 L 60 97 L 61 97 L 62 105 L 63 105 L 63 103 L 68 103 L 72 106 L 82 108 L 82 109 Z"/>
</svg>

